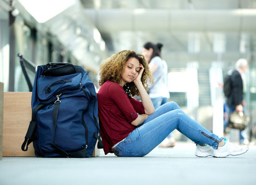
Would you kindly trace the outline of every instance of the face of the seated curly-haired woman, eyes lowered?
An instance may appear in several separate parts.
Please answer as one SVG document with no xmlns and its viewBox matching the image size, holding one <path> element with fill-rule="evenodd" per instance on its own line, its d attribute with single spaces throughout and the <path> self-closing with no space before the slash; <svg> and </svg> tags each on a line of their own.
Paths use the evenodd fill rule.
<svg viewBox="0 0 256 185">
<path fill-rule="evenodd" d="M 125 64 L 125 69 L 121 73 L 121 86 L 124 86 L 126 83 L 130 83 L 139 75 L 139 60 L 135 58 L 130 58 Z"/>
</svg>

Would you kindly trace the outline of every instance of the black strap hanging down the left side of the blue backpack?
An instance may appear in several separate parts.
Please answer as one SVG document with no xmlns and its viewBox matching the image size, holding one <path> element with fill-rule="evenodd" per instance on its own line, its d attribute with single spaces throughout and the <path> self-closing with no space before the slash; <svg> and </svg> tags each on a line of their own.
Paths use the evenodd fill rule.
<svg viewBox="0 0 256 185">
<path fill-rule="evenodd" d="M 37 111 L 39 109 L 42 109 L 45 107 L 47 104 L 38 104 L 37 107 L 35 107 L 32 110 L 32 120 L 29 123 L 29 128 L 27 130 L 27 134 L 25 135 L 25 140 L 21 146 L 21 149 L 23 151 L 27 151 L 29 144 L 37 139 L 37 134 L 36 134 L 36 128 L 37 128 L 37 122 L 35 120 L 35 116 L 37 114 Z"/>
</svg>

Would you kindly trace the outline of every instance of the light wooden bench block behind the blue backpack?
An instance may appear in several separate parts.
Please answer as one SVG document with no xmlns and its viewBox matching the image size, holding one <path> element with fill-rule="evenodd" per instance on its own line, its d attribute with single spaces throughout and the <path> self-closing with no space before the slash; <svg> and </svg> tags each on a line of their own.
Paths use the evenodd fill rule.
<svg viewBox="0 0 256 185">
<path fill-rule="evenodd" d="M 21 150 L 32 117 L 32 92 L 4 92 L 2 156 L 35 156 L 33 144 Z M 100 155 L 95 147 L 92 157 Z"/>
</svg>

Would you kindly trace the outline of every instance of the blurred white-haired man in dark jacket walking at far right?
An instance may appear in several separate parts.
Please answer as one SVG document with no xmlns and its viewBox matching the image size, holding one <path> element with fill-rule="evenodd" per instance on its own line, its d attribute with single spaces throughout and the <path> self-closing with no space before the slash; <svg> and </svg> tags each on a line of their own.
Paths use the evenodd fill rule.
<svg viewBox="0 0 256 185">
<path fill-rule="evenodd" d="M 246 83 L 245 83 L 245 71 L 248 68 L 248 62 L 245 59 L 239 59 L 236 62 L 236 70 L 232 72 L 231 75 L 231 94 L 227 97 L 227 107 L 228 114 L 234 112 L 243 112 L 245 113 L 246 103 L 244 101 L 244 94 L 246 92 Z M 240 140 L 241 144 L 248 144 L 247 139 L 247 130 L 240 131 Z"/>
</svg>

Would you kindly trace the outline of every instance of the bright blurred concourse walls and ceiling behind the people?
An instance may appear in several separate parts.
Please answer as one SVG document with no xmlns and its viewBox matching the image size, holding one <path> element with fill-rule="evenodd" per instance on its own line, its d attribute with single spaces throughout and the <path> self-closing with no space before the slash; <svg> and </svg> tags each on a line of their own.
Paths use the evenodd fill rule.
<svg viewBox="0 0 256 185">
<path fill-rule="evenodd" d="M 117 51 L 162 43 L 169 101 L 209 130 L 223 116 L 223 78 L 249 61 L 247 112 L 256 124 L 255 0 L 0 0 L 0 81 L 29 91 L 17 54 L 35 67 L 82 65 L 99 88 L 99 65 Z M 29 70 L 33 81 L 35 71 Z M 216 103 L 218 102 L 218 104 Z"/>
</svg>

